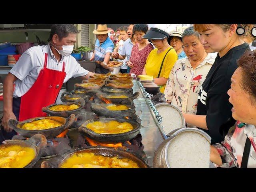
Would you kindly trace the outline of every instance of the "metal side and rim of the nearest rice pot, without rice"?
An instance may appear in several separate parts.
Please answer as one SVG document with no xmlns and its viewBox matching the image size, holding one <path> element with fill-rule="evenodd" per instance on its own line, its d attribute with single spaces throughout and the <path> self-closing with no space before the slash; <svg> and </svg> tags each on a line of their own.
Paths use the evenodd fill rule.
<svg viewBox="0 0 256 192">
<path fill-rule="evenodd" d="M 169 133 L 166 140 L 164 140 L 160 146 L 158 146 L 157 150 L 155 151 L 154 154 L 154 159 L 153 159 L 153 167 L 154 168 L 171 168 L 169 162 L 168 162 L 168 148 L 169 144 L 174 139 L 178 134 L 186 131 L 192 131 L 192 132 L 197 132 L 204 136 L 206 140 L 208 140 L 209 144 L 211 143 L 211 138 L 206 132 L 198 129 L 198 128 L 178 128 L 176 130 L 173 130 L 172 132 Z M 210 163 L 210 162 L 209 162 Z"/>
</svg>

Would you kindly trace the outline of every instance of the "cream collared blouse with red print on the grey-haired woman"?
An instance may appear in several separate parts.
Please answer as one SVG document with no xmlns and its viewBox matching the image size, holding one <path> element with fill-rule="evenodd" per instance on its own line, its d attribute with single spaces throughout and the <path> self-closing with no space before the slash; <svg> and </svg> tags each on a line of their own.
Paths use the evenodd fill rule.
<svg viewBox="0 0 256 192">
<path fill-rule="evenodd" d="M 216 53 L 208 54 L 195 69 L 188 58 L 176 61 L 164 90 L 166 100 L 183 113 L 196 114 L 198 93 L 215 57 Z"/>
</svg>

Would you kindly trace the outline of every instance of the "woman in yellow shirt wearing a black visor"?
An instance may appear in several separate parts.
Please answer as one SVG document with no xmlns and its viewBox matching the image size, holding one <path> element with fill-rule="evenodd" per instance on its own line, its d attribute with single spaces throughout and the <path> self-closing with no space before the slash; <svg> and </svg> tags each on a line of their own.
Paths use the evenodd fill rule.
<svg viewBox="0 0 256 192">
<path fill-rule="evenodd" d="M 142 74 L 153 76 L 154 83 L 160 86 L 160 92 L 162 93 L 170 71 L 178 60 L 176 51 L 167 42 L 168 36 L 169 34 L 164 30 L 152 27 L 142 37 L 148 39 L 156 47 L 148 55 Z"/>
</svg>

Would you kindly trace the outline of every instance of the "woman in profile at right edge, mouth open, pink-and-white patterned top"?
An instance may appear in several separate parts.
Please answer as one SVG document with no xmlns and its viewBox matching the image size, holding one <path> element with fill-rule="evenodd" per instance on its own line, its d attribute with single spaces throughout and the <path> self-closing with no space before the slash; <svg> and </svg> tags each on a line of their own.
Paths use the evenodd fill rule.
<svg viewBox="0 0 256 192">
<path fill-rule="evenodd" d="M 216 167 L 256 168 L 256 51 L 238 60 L 228 95 L 238 121 L 223 142 L 211 146 L 210 160 Z"/>
</svg>

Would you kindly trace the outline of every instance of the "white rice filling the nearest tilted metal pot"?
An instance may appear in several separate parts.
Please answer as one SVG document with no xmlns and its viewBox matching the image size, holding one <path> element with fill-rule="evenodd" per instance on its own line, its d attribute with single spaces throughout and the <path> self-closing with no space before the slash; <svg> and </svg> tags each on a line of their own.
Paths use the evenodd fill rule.
<svg viewBox="0 0 256 192">
<path fill-rule="evenodd" d="M 178 134 L 171 140 L 167 152 L 171 168 L 209 168 L 210 143 L 197 132 Z"/>
</svg>

